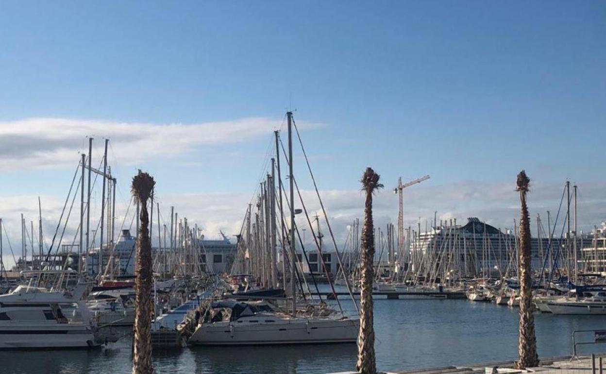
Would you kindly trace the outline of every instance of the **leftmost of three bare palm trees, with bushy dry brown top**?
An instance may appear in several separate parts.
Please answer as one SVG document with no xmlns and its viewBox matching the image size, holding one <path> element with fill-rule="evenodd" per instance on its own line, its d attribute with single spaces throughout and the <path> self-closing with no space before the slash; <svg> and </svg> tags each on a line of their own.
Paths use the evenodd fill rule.
<svg viewBox="0 0 606 374">
<path fill-rule="evenodd" d="M 151 242 L 149 235 L 149 218 L 147 200 L 155 182 L 147 173 L 141 173 L 133 178 L 132 193 L 141 204 L 139 213 L 139 232 L 137 234 L 137 263 L 135 284 L 135 337 L 133 351 L 133 374 L 151 374 L 151 315 L 153 301 L 151 299 L 152 260 Z"/>
</svg>

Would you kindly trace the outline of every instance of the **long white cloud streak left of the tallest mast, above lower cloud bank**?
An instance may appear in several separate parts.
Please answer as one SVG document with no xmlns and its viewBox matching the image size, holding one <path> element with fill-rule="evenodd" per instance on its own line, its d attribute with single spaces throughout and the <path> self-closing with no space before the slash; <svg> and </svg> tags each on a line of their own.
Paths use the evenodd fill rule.
<svg viewBox="0 0 606 374">
<path fill-rule="evenodd" d="M 87 150 L 87 136 L 109 138 L 121 162 L 188 152 L 198 145 L 243 142 L 282 125 L 271 118 L 242 118 L 199 124 L 148 124 L 90 119 L 30 118 L 0 122 L 0 170 L 46 169 L 73 165 Z M 321 124 L 299 122 L 301 129 Z"/>
</svg>

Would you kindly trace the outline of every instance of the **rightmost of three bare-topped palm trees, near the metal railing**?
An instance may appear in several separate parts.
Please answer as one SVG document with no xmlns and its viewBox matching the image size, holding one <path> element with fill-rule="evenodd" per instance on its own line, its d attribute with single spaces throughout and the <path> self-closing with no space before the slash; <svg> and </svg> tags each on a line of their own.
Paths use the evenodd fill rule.
<svg viewBox="0 0 606 374">
<path fill-rule="evenodd" d="M 536 336 L 534 335 L 534 316 L 532 308 L 532 273 L 530 267 L 530 218 L 526 205 L 526 193 L 530 179 L 524 170 L 518 174 L 517 189 L 520 192 L 520 238 L 519 238 L 519 282 L 520 282 L 520 327 L 518 340 L 519 361 L 517 369 L 536 367 L 539 356 L 536 353 Z"/>
</svg>

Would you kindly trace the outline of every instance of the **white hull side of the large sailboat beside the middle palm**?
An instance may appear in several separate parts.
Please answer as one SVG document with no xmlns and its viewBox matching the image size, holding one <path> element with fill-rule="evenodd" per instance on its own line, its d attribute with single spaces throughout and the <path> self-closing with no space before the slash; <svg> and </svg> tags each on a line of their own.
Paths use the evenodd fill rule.
<svg viewBox="0 0 606 374">
<path fill-rule="evenodd" d="M 356 342 L 359 319 L 280 319 L 271 316 L 202 324 L 188 340 L 199 345 Z"/>
</svg>

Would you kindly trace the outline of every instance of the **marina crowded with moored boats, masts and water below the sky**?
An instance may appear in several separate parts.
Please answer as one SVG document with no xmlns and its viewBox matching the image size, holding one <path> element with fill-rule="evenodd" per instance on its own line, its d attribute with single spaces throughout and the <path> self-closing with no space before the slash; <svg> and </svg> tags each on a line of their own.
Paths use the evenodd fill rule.
<svg viewBox="0 0 606 374">
<path fill-rule="evenodd" d="M 538 331 L 536 349 L 542 355 L 570 354 L 571 339 L 574 341 L 577 332 L 604 329 L 600 316 L 606 314 L 606 283 L 599 249 L 606 224 L 601 229 L 596 225 L 588 234 L 577 235 L 574 230 L 573 240 L 570 233 L 556 238 L 553 232 L 558 225 L 562 232 L 571 226 L 567 213 L 564 222 L 556 219 L 552 226 L 549 220 L 547 228 L 537 221 L 539 235 L 549 233 L 547 238 L 531 238 L 527 232 L 522 242 L 518 227 L 501 230 L 478 218 L 468 218 L 464 225 L 458 225 L 456 219 L 438 224 L 436 214 L 431 228 L 421 233 L 420 221 L 417 230 L 404 228 L 400 199 L 398 227 L 388 224 L 385 231 L 373 229 L 376 251 L 369 257 L 368 237 L 362 234 L 359 219 L 348 226 L 345 242 L 337 244 L 318 191 L 311 199 L 317 199 L 322 216 L 310 215 L 310 202 L 299 190 L 299 178 L 290 161 L 293 135 L 307 164 L 304 172 L 314 183 L 315 177 L 293 113 L 287 112 L 286 118 L 287 146 L 284 135 L 273 133 L 275 153 L 270 155 L 269 169 L 264 170 L 265 177 L 256 187 L 233 243 L 222 231 L 222 239 L 206 239 L 198 225 L 179 216 L 173 206 L 162 220 L 166 213 L 153 201 L 151 192 L 150 202 L 130 201 L 130 227 L 122 223 L 119 230 L 113 219 L 103 218 L 106 213 L 115 215 L 108 193 L 98 221 L 99 230 L 107 225 L 105 245 L 100 241 L 98 247 L 96 232 L 86 244 L 88 236 L 82 230 L 71 244 L 62 244 L 61 237 L 55 252 L 53 242 L 46 255 L 40 250 L 27 259 L 23 225 L 22 257 L 10 270 L 11 278 L 2 269 L 8 292 L 0 295 L 0 348 L 13 352 L 87 349 L 65 355 L 68 361 L 98 367 L 86 370 L 99 373 L 105 373 L 102 367 L 115 368 L 116 362 L 123 362 L 124 372 L 130 372 L 128 362 L 137 355 L 130 347 L 138 344 L 139 349 L 151 348 L 146 359 L 159 372 L 171 366 L 178 366 L 179 372 L 200 373 L 339 372 L 355 365 L 356 346 L 360 347 L 364 326 L 368 326 L 362 319 L 368 313 L 368 302 L 374 301 L 373 350 L 381 370 L 431 372 L 431 367 L 442 365 L 459 370 L 456 364 L 464 364 L 463 359 L 514 361 L 516 325 L 522 304 L 528 302 L 523 292 L 530 292 L 530 304 L 524 307 L 530 307 L 528 313 Z M 92 142 L 90 139 L 89 145 Z M 106 150 L 108 142 L 106 139 Z M 106 158 L 104 153 L 105 172 L 100 175 L 115 183 L 107 172 Z M 284 159 L 288 161 L 287 181 L 282 179 Z M 73 207 L 76 198 L 81 198 L 79 227 L 90 219 L 84 196 L 92 192 L 85 193 L 83 186 L 85 170 L 93 169 L 86 166 L 86 160 L 83 154 L 65 203 L 67 207 L 72 196 Z M 372 172 L 367 169 L 367 173 L 369 170 Z M 79 195 L 73 189 L 78 174 Z M 139 171 L 136 178 L 151 177 Z M 407 184 L 399 180 L 395 191 L 402 194 L 405 187 L 428 178 Z M 570 195 L 571 187 L 574 195 L 564 205 L 568 212 L 570 203 L 576 209 L 578 187 L 566 182 L 563 195 Z M 301 209 L 291 203 L 295 196 Z M 559 210 L 562 207 L 561 203 Z M 576 219 L 573 223 L 576 225 Z M 311 242 L 305 241 L 301 229 L 309 230 Z M 2 222 L 0 230 L 4 232 Z M 29 235 L 34 235 L 33 225 Z M 139 282 L 145 253 L 140 235 L 148 235 L 149 251 L 149 282 L 143 294 Z M 35 248 L 32 241 L 29 244 Z M 3 245 L 0 237 L 0 247 Z M 80 245 L 86 250 L 80 250 Z M 527 258 L 522 257 L 524 245 Z M 528 261 L 528 269 L 522 261 Z M 528 270 L 524 281 L 521 274 Z M 530 284 L 524 284 L 528 281 Z M 144 325 L 138 319 L 142 300 L 151 306 L 153 317 Z M 149 329 L 144 346 L 136 342 L 142 327 Z M 576 345 L 572 346 L 576 352 Z M 583 348 L 585 354 L 601 352 L 599 344 Z M 429 356 L 428 350 L 432 351 Z M 45 353 L 30 354 L 50 359 Z M 19 355 L 0 353 L 7 362 Z M 268 365 L 265 360 L 273 363 Z M 47 366 L 28 370 L 52 372 Z"/>
</svg>

